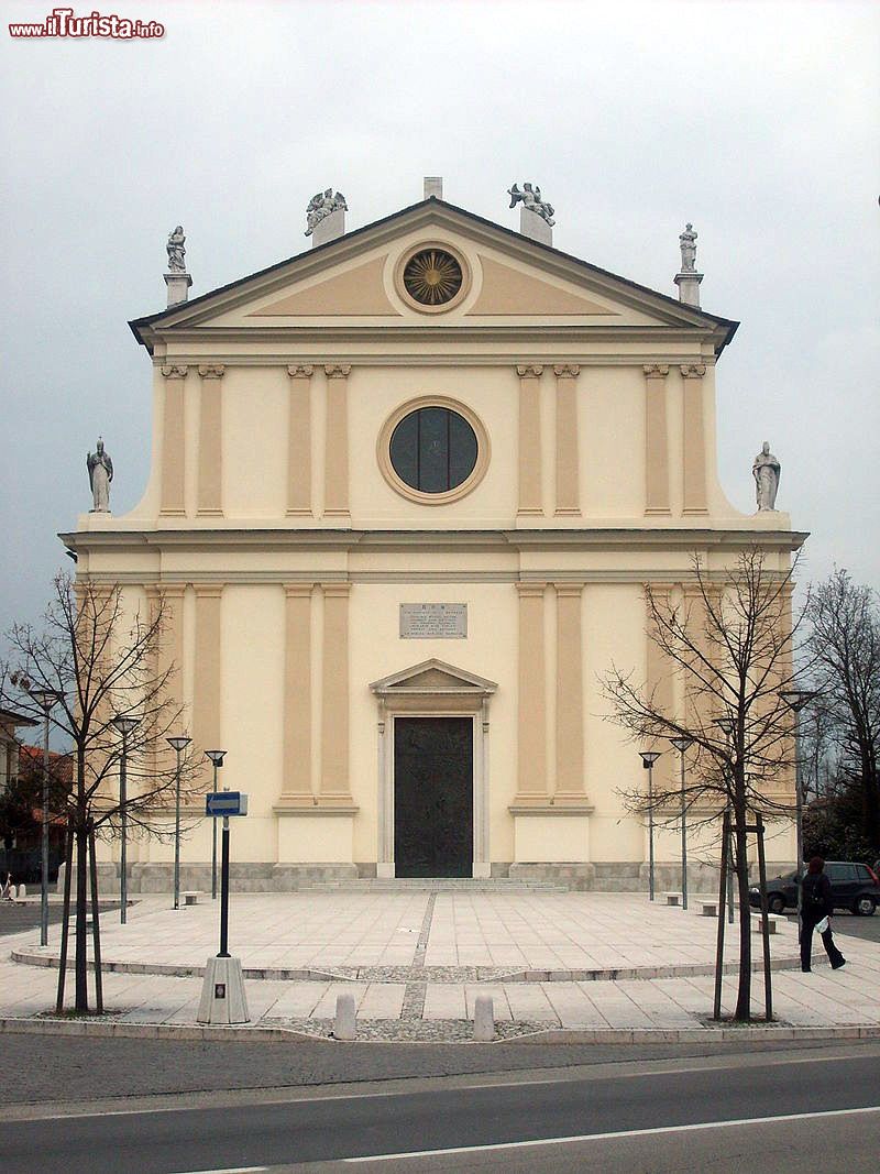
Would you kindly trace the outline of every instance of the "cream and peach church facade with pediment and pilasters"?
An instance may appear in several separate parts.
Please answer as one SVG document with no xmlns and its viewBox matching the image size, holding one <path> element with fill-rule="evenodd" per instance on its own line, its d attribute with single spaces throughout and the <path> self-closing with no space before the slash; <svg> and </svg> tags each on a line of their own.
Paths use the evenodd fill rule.
<svg viewBox="0 0 880 1174">
<path fill-rule="evenodd" d="M 644 771 L 601 677 L 663 676 L 645 586 L 686 595 L 695 552 L 720 573 L 756 542 L 784 572 L 803 541 L 719 485 L 737 324 L 699 309 L 692 251 L 672 298 L 521 215 L 514 232 L 428 195 L 346 234 L 337 198 L 307 252 L 191 301 L 178 264 L 181 299 L 131 323 L 149 483 L 63 538 L 80 579 L 162 598 L 189 733 L 250 796 L 241 888 L 637 876 L 647 830 L 618 792 Z M 210 861 L 208 823 L 184 870 Z M 657 859 L 677 853 L 659 829 Z M 133 855 L 167 888 L 169 844 Z M 787 830 L 769 856 L 794 858 Z"/>
</svg>

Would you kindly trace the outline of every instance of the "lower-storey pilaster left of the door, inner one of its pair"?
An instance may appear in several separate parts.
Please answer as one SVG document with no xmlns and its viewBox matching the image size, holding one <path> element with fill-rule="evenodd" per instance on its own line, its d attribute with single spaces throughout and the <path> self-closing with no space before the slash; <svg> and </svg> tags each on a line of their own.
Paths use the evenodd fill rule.
<svg viewBox="0 0 880 1174">
<path fill-rule="evenodd" d="M 351 807 L 348 778 L 348 595 L 350 583 L 321 583 L 320 803 Z"/>
</svg>

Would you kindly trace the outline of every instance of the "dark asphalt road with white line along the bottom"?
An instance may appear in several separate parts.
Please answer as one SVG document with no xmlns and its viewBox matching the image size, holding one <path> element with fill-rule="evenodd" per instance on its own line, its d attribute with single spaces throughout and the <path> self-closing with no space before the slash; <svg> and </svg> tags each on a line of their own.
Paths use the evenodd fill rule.
<svg viewBox="0 0 880 1174">
<path fill-rule="evenodd" d="M 873 1174 L 880 1152 L 879 1062 L 880 1044 L 872 1041 L 772 1055 L 276 1089 L 244 1102 L 230 1094 L 190 1097 L 175 1108 L 134 1112 L 134 1106 L 107 1112 L 84 1104 L 61 1114 L 32 1107 L 9 1120 L 7 1108 L 0 1168 L 4 1174 L 177 1174 L 409 1154 L 405 1161 L 343 1168 Z M 865 1108 L 875 1112 L 851 1112 Z M 767 1122 L 767 1116 L 794 1119 Z M 584 1138 L 590 1140 L 567 1140 Z M 546 1139 L 554 1140 L 523 1145 Z M 508 1148 L 473 1152 L 485 1146 Z M 769 1156 L 776 1151 L 787 1166 Z"/>
</svg>

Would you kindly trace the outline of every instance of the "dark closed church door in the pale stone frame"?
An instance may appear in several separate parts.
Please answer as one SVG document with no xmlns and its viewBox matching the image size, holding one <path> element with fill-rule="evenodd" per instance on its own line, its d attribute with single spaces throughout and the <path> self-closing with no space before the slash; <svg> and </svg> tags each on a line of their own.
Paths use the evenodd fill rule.
<svg viewBox="0 0 880 1174">
<path fill-rule="evenodd" d="M 469 877 L 473 861 L 473 720 L 395 717 L 395 875 Z"/>
</svg>

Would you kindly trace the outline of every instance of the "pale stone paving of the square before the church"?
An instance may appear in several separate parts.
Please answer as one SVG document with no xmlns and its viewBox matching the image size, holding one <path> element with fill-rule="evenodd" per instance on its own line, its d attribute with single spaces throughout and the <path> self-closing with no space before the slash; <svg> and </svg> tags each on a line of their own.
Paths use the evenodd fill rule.
<svg viewBox="0 0 880 1174">
<path fill-rule="evenodd" d="M 115 1021 L 196 1021 L 201 969 L 217 949 L 218 905 L 174 911 L 144 897 L 101 918 L 104 1003 Z M 736 927 L 725 959 L 737 962 Z M 499 1035 L 543 1028 L 677 1031 L 705 1025 L 712 1006 L 717 922 L 651 905 L 641 893 L 299 892 L 233 893 L 230 942 L 248 978 L 251 1020 L 332 1031 L 337 996 L 354 994 L 361 1037 L 468 1038 L 478 993 L 494 1000 Z M 880 1025 L 880 945 L 840 938 L 848 964 L 832 972 L 817 938 L 803 974 L 797 930 L 771 938 L 778 1021 L 794 1026 Z M 59 929 L 0 938 L 0 1016 L 31 1017 L 54 1004 Z M 752 936 L 756 965 L 760 938 Z M 26 962 L 13 962 L 12 953 Z M 136 967 L 137 973 L 126 967 Z M 144 973 L 176 967 L 177 974 Z M 284 976 L 284 977 L 279 977 Z M 295 977 L 297 976 L 297 977 Z M 70 976 L 72 981 L 73 976 Z M 732 1010 L 735 979 L 724 984 Z M 753 981 L 763 1007 L 763 974 Z"/>
</svg>

